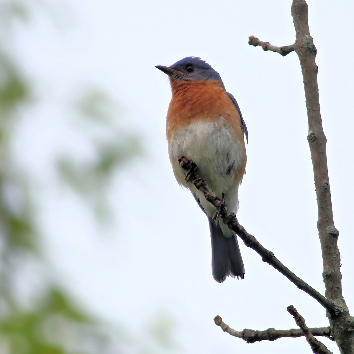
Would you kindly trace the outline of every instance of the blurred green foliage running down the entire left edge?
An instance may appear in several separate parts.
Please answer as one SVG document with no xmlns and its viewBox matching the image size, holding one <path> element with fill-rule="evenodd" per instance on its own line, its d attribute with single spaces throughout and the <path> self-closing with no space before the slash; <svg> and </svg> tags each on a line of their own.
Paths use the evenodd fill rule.
<svg viewBox="0 0 354 354">
<path fill-rule="evenodd" d="M 4 33 L 9 35 L 11 20 L 27 18 L 29 12 L 20 2 L 3 1 L 0 13 L 0 352 L 104 353 L 108 348 L 104 324 L 52 283 L 50 275 L 43 276 L 38 291 L 29 291 L 33 292 L 30 305 L 18 292 L 19 282 L 30 286 L 30 281 L 21 279 L 27 267 L 45 273 L 48 263 L 40 250 L 29 176 L 16 164 L 12 151 L 13 132 L 21 124 L 20 112 L 29 104 L 30 89 Z"/>
</svg>

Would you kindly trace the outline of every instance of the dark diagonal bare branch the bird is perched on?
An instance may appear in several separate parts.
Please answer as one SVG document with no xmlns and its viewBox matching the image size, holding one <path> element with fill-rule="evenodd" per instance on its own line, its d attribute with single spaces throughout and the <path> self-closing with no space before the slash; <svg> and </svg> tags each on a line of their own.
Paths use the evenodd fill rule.
<svg viewBox="0 0 354 354">
<path fill-rule="evenodd" d="M 198 190 L 204 193 L 205 199 L 219 210 L 224 224 L 227 225 L 229 229 L 236 232 L 247 247 L 254 249 L 262 257 L 263 262 L 272 265 L 275 269 L 280 271 L 281 274 L 285 275 L 287 279 L 293 282 L 299 289 L 316 299 L 328 311 L 335 312 L 335 306 L 329 299 L 326 299 L 317 290 L 295 275 L 290 269 L 286 268 L 286 266 L 274 256 L 273 252 L 264 248 L 254 236 L 250 235 L 245 228 L 239 224 L 236 215 L 227 210 L 224 201 L 217 197 L 216 194 L 208 188 L 206 182 L 202 180 L 201 176 L 197 173 L 197 166 L 194 162 L 189 161 L 184 156 L 179 156 L 178 162 L 183 169 L 188 171 L 188 179 L 194 183 Z"/>
</svg>

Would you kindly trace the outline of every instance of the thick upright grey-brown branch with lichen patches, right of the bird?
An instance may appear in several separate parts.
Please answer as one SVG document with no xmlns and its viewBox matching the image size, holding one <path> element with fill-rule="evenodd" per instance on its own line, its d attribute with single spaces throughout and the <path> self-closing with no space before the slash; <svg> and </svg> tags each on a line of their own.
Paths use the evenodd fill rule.
<svg viewBox="0 0 354 354">
<path fill-rule="evenodd" d="M 309 31 L 308 5 L 306 1 L 293 0 L 291 14 L 296 30 L 295 52 L 301 64 L 306 97 L 309 125 L 308 142 L 316 186 L 317 227 L 322 249 L 323 279 L 326 287 L 326 297 L 335 302 L 338 310 L 336 315 L 327 315 L 332 326 L 332 335 L 341 353 L 353 353 L 353 318 L 349 315 L 347 304 L 342 295 L 342 275 L 339 269 L 340 254 L 337 246 L 339 232 L 335 228 L 333 221 L 326 155 L 327 140 L 322 128 L 318 94 L 318 67 L 315 63 L 317 50 Z"/>
</svg>

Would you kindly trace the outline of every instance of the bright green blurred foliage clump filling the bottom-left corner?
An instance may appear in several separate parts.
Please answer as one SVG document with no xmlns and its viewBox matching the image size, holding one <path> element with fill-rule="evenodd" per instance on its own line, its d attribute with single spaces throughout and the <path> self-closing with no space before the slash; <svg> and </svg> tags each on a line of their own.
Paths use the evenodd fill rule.
<svg viewBox="0 0 354 354">
<path fill-rule="evenodd" d="M 6 338 L 9 353 L 64 354 L 100 353 L 85 350 L 82 343 L 96 342 L 103 349 L 107 338 L 98 331 L 97 323 L 80 311 L 63 290 L 47 288 L 32 309 L 12 309 L 1 320 L 1 336 Z"/>
</svg>

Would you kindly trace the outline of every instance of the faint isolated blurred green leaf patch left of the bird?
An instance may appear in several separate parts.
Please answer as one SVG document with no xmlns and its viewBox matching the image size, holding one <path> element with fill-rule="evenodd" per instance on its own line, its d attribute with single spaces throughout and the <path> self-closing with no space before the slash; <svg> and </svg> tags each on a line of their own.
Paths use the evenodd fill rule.
<svg viewBox="0 0 354 354">
<path fill-rule="evenodd" d="M 112 177 L 141 153 L 141 137 L 125 131 L 113 100 L 97 88 L 85 89 L 74 105 L 75 126 L 84 132 L 93 157 L 64 155 L 58 170 L 65 183 L 93 207 L 99 220 L 109 216 Z"/>
</svg>

